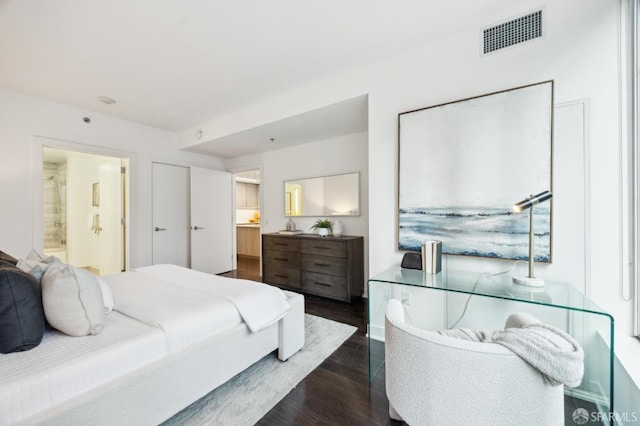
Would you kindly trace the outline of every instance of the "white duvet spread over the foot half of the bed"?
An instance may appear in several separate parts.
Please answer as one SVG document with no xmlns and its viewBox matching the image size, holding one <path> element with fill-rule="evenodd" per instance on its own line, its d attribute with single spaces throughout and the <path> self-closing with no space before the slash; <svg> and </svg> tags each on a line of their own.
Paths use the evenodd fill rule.
<svg viewBox="0 0 640 426">
<path fill-rule="evenodd" d="M 290 309 L 276 287 L 176 265 L 146 266 L 103 278 L 113 291 L 115 309 L 161 328 L 170 352 L 243 320 L 252 332 L 262 330 Z"/>
</svg>

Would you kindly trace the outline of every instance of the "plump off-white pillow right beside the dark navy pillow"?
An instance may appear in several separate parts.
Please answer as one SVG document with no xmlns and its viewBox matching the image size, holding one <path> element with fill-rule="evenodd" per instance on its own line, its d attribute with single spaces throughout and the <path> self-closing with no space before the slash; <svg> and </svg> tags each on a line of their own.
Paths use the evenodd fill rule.
<svg viewBox="0 0 640 426">
<path fill-rule="evenodd" d="M 71 265 L 52 264 L 42 277 L 42 306 L 47 322 L 70 336 L 99 334 L 105 305 L 95 275 Z"/>
</svg>

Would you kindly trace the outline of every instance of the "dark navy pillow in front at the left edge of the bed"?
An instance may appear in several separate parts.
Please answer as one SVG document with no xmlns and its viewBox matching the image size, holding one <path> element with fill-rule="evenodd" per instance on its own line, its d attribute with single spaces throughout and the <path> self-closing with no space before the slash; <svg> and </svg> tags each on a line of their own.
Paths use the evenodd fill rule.
<svg viewBox="0 0 640 426">
<path fill-rule="evenodd" d="M 0 265 L 0 353 L 27 351 L 44 335 L 42 296 L 36 279 L 14 266 Z"/>
</svg>

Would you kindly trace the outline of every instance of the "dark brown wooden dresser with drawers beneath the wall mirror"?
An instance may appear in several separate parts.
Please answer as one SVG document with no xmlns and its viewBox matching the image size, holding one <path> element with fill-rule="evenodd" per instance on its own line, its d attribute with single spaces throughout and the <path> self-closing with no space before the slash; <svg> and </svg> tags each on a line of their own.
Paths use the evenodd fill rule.
<svg viewBox="0 0 640 426">
<path fill-rule="evenodd" d="M 364 291 L 364 238 L 263 234 L 262 280 L 351 302 Z"/>
</svg>

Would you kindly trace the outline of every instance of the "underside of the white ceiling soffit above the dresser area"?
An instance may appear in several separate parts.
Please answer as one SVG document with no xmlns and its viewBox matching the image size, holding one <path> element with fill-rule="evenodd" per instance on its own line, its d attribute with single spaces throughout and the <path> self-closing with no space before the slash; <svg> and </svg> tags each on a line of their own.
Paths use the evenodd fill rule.
<svg viewBox="0 0 640 426">
<path fill-rule="evenodd" d="M 368 97 L 363 95 L 186 149 L 221 158 L 241 157 L 364 132 L 368 114 Z"/>
</svg>

